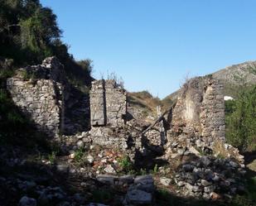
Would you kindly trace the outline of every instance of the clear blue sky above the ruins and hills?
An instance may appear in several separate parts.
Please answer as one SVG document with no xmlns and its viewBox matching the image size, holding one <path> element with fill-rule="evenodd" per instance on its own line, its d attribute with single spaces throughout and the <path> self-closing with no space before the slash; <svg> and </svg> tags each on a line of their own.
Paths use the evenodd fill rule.
<svg viewBox="0 0 256 206">
<path fill-rule="evenodd" d="M 255 0 L 41 0 L 76 60 L 114 72 L 129 91 L 159 98 L 186 74 L 256 60 Z"/>
</svg>

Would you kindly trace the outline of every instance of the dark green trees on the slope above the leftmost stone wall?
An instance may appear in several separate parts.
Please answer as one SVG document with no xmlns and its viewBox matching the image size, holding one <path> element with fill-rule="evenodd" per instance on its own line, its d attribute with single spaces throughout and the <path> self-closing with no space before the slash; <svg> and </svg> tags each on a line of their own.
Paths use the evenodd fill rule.
<svg viewBox="0 0 256 206">
<path fill-rule="evenodd" d="M 60 41 L 61 33 L 56 15 L 39 0 L 0 0 L 0 56 L 22 67 L 56 55 L 71 84 L 89 86 L 92 61 L 75 61 Z"/>
</svg>

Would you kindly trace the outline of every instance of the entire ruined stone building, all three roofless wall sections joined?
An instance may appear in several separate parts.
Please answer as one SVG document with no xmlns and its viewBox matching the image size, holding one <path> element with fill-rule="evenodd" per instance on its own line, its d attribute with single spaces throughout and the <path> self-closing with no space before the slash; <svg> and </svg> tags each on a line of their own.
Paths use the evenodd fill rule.
<svg viewBox="0 0 256 206">
<path fill-rule="evenodd" d="M 147 132 L 137 119 L 128 120 L 127 92 L 113 79 L 93 81 L 89 97 L 78 99 L 76 94 L 72 96 L 63 66 L 55 57 L 19 69 L 7 79 L 7 89 L 13 102 L 51 137 L 66 131 L 88 131 L 88 123 L 84 119 L 79 122 L 78 117 L 90 117 L 85 143 L 124 149 L 136 146 L 140 151 L 167 148 L 175 154 L 225 140 L 223 87 L 210 76 L 184 84 L 176 104 Z M 79 106 L 73 107 L 75 103 Z M 71 120 L 69 113 L 75 113 L 75 118 Z"/>
</svg>

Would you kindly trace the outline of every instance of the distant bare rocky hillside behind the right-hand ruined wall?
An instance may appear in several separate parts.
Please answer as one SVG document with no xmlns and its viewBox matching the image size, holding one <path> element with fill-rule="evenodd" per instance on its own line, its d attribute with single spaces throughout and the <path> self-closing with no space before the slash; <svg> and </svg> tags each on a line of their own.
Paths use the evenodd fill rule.
<svg viewBox="0 0 256 206">
<path fill-rule="evenodd" d="M 231 65 L 209 74 L 219 79 L 224 85 L 225 96 L 235 98 L 241 88 L 246 85 L 256 84 L 256 61 L 246 61 L 239 65 Z M 171 93 L 162 102 L 173 101 L 177 98 L 179 90 Z"/>
</svg>

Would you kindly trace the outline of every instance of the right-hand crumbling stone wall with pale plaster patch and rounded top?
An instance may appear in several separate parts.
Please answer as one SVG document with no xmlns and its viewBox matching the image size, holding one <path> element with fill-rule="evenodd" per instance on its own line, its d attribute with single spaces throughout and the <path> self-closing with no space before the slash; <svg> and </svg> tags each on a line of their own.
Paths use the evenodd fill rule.
<svg viewBox="0 0 256 206">
<path fill-rule="evenodd" d="M 225 140 L 223 86 L 210 76 L 189 80 L 171 110 L 168 144 L 173 152 Z"/>
</svg>

